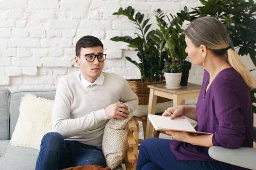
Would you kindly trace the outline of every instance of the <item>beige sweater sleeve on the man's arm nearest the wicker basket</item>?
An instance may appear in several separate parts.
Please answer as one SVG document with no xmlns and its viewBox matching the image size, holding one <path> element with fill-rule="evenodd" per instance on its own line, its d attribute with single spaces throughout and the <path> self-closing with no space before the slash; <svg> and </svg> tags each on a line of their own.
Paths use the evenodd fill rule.
<svg viewBox="0 0 256 170">
<path fill-rule="evenodd" d="M 139 104 L 139 98 L 132 91 L 132 89 L 130 88 L 130 85 L 125 79 L 121 78 L 121 81 L 122 81 L 122 84 L 121 84 L 122 93 L 121 93 L 120 102 L 124 102 L 124 104 L 128 106 L 128 111 L 133 112 Z"/>
</svg>

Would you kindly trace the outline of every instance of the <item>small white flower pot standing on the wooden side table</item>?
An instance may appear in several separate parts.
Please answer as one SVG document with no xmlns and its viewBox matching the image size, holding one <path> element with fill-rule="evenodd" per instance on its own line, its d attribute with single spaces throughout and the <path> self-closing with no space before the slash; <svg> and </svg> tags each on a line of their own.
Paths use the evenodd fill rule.
<svg viewBox="0 0 256 170">
<path fill-rule="evenodd" d="M 179 89 L 182 73 L 164 73 L 166 88 Z"/>
</svg>

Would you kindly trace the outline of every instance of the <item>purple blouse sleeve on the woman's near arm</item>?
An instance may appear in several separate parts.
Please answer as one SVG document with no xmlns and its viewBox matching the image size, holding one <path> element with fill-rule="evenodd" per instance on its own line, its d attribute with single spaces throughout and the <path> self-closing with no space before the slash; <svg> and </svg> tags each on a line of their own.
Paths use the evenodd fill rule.
<svg viewBox="0 0 256 170">
<path fill-rule="evenodd" d="M 221 83 L 214 93 L 214 109 L 218 130 L 213 133 L 214 146 L 238 148 L 245 137 L 244 117 L 241 114 L 241 91 L 232 82 Z"/>
</svg>

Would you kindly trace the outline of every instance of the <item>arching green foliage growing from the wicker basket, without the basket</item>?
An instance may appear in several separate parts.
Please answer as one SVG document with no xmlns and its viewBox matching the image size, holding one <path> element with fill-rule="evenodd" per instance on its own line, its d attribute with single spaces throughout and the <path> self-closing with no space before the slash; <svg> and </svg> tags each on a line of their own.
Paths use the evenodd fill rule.
<svg viewBox="0 0 256 170">
<path fill-rule="evenodd" d="M 126 60 L 135 64 L 141 73 L 141 82 L 155 82 L 163 79 L 162 69 L 164 68 L 164 61 L 167 60 L 168 55 L 164 51 L 164 40 L 159 37 L 155 30 L 148 31 L 152 24 L 148 24 L 149 19 L 144 20 L 144 14 L 136 13 L 132 7 L 126 9 L 120 8 L 118 12 L 113 15 L 125 15 L 140 33 L 135 33 L 136 38 L 130 36 L 114 37 L 110 40 L 121 41 L 128 43 L 128 46 L 137 51 L 140 63 L 126 57 Z"/>
</svg>

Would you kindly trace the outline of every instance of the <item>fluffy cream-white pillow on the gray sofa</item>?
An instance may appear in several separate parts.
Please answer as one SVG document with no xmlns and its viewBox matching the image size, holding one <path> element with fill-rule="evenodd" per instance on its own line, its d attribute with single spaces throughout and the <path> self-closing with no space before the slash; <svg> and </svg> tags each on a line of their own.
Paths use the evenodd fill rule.
<svg viewBox="0 0 256 170">
<path fill-rule="evenodd" d="M 40 150 L 43 136 L 52 131 L 54 100 L 26 94 L 20 102 L 20 115 L 11 137 L 12 146 Z"/>
</svg>

